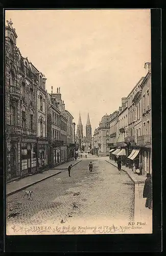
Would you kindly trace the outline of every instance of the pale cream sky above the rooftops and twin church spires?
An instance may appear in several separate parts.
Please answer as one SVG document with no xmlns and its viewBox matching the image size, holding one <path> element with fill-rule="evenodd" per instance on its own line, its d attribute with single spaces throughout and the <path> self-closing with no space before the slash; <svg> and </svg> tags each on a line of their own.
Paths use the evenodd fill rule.
<svg viewBox="0 0 166 256">
<path fill-rule="evenodd" d="M 150 10 L 7 10 L 23 57 L 60 87 L 65 108 L 85 135 L 121 106 L 151 62 Z"/>
</svg>

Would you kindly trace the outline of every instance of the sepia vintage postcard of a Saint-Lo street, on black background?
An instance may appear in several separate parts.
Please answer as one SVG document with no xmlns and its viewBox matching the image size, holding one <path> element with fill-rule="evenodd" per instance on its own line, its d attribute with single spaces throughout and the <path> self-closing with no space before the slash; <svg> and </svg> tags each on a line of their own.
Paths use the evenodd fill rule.
<svg viewBox="0 0 166 256">
<path fill-rule="evenodd" d="M 4 19 L 7 235 L 153 233 L 150 10 Z"/>
</svg>

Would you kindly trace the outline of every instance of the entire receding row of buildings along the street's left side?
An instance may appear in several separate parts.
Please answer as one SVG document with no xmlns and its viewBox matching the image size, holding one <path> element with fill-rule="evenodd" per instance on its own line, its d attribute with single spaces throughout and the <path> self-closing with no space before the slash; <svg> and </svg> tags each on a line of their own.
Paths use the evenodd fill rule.
<svg viewBox="0 0 166 256">
<path fill-rule="evenodd" d="M 12 22 L 5 26 L 7 180 L 74 159 L 74 117 L 60 93 L 48 93 L 46 78 L 16 47 Z"/>
</svg>

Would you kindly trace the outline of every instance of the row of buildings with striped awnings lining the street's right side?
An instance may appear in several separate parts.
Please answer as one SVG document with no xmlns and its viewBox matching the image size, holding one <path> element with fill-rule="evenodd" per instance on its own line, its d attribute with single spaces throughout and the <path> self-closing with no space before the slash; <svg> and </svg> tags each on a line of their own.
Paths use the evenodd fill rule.
<svg viewBox="0 0 166 256">
<path fill-rule="evenodd" d="M 152 172 L 151 63 L 145 63 L 146 75 L 141 77 L 121 106 L 104 115 L 91 142 L 93 155 L 121 156 L 122 163 L 142 174 Z"/>
</svg>

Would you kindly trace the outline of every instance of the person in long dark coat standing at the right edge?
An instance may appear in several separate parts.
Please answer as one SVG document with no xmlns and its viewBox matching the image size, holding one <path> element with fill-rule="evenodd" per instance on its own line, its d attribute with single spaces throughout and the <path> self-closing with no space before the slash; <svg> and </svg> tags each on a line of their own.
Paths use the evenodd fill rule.
<svg viewBox="0 0 166 256">
<path fill-rule="evenodd" d="M 147 174 L 147 179 L 144 185 L 143 198 L 146 199 L 145 207 L 152 209 L 152 179 L 151 174 Z"/>
</svg>

